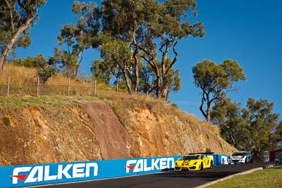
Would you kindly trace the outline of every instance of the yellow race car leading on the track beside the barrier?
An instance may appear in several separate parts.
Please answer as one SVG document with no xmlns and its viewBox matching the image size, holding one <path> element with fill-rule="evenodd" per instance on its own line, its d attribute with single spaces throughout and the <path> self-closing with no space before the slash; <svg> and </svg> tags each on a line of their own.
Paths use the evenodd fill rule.
<svg viewBox="0 0 282 188">
<path fill-rule="evenodd" d="M 214 165 L 212 157 L 204 154 L 189 154 L 178 158 L 174 164 L 175 171 L 181 170 L 203 170 L 205 168 L 212 168 Z"/>
</svg>

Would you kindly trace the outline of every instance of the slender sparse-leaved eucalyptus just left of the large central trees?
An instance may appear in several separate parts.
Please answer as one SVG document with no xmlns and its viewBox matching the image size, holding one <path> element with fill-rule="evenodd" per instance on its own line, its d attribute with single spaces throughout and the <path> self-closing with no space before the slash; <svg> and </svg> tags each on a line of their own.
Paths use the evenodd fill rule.
<svg viewBox="0 0 282 188">
<path fill-rule="evenodd" d="M 58 43 L 61 48 L 54 49 L 51 64 L 59 64 L 63 73 L 69 77 L 76 77 L 82 63 L 85 50 L 96 48 L 99 44 L 99 8 L 93 2 L 73 3 L 73 13 L 78 15 L 77 25 L 66 24 L 61 28 Z M 95 22 L 96 20 L 96 22 Z M 90 30 L 91 28 L 91 30 Z M 66 50 L 63 48 L 66 46 Z"/>
</svg>

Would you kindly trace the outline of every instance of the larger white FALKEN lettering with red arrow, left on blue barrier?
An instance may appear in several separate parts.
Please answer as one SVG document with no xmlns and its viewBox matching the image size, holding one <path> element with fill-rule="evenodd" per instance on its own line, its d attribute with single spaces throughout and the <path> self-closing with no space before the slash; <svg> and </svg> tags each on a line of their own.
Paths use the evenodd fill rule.
<svg viewBox="0 0 282 188">
<path fill-rule="evenodd" d="M 50 172 L 50 165 L 36 165 L 16 167 L 13 169 L 12 183 L 18 184 L 18 180 L 24 183 L 44 182 L 51 180 L 63 180 L 83 177 L 94 177 L 98 175 L 97 163 L 68 163 L 58 165 L 56 173 Z"/>
</svg>

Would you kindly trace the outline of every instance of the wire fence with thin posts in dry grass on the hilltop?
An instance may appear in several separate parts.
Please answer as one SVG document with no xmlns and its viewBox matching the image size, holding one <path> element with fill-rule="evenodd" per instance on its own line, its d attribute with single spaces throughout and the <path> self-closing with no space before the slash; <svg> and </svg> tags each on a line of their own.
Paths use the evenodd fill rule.
<svg viewBox="0 0 282 188">
<path fill-rule="evenodd" d="M 84 95 L 84 96 L 97 96 L 97 92 L 116 91 L 118 92 L 118 86 L 116 89 L 105 89 L 97 87 L 96 80 L 94 82 L 87 82 L 87 84 L 81 82 L 75 82 L 69 79 L 66 84 L 43 84 L 39 78 L 37 82 L 13 82 L 11 77 L 7 80 L 0 80 L 0 95 L 30 95 L 30 96 L 44 96 L 44 95 Z"/>
</svg>

